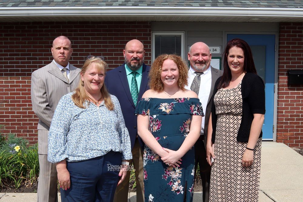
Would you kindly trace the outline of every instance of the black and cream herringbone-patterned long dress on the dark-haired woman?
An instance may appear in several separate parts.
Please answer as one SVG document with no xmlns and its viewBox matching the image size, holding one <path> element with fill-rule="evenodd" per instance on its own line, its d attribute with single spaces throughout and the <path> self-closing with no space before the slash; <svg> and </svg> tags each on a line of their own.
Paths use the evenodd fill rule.
<svg viewBox="0 0 303 202">
<path fill-rule="evenodd" d="M 236 88 L 219 89 L 214 103 L 218 116 L 214 148 L 216 159 L 211 168 L 209 201 L 258 201 L 261 138 L 255 146 L 250 167 L 241 164 L 247 142 L 237 141 L 242 117 L 241 83 Z"/>
</svg>

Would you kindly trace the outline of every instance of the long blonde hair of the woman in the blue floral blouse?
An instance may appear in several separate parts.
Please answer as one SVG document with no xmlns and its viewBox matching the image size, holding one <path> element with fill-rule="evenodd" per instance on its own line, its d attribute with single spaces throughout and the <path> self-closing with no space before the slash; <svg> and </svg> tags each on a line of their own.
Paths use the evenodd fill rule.
<svg viewBox="0 0 303 202">
<path fill-rule="evenodd" d="M 95 64 L 95 68 L 97 69 L 97 71 L 104 71 L 105 73 L 107 64 L 105 61 L 100 60 L 99 58 L 85 60 L 80 73 L 85 74 L 85 72 L 88 70 L 89 66 L 92 63 Z M 113 110 L 114 104 L 112 103 L 111 96 L 108 93 L 104 83 L 100 91 L 104 98 L 104 104 L 106 108 L 108 108 L 108 110 Z M 77 105 L 79 108 L 85 109 L 85 106 L 83 104 L 86 100 L 89 101 L 89 96 L 86 94 L 84 86 L 82 86 L 82 80 L 80 79 L 78 87 L 76 88 L 75 93 L 72 95 L 72 101 L 74 101 L 75 105 Z"/>
</svg>

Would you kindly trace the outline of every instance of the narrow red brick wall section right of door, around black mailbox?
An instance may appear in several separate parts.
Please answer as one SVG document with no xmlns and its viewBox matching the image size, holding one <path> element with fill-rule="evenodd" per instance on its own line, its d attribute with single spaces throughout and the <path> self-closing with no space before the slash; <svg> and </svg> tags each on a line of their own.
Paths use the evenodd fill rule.
<svg viewBox="0 0 303 202">
<path fill-rule="evenodd" d="M 288 85 L 287 70 L 303 69 L 303 23 L 280 23 L 277 142 L 303 147 L 303 85 Z"/>
</svg>

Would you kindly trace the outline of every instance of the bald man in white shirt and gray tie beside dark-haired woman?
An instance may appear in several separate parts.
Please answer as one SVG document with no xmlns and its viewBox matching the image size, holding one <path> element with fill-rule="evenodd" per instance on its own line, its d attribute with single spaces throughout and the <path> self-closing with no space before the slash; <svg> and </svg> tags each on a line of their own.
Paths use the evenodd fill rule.
<svg viewBox="0 0 303 202">
<path fill-rule="evenodd" d="M 209 183 L 211 167 L 206 160 L 206 137 L 208 121 L 211 113 L 211 96 L 216 80 L 222 71 L 211 67 L 211 53 L 208 45 L 203 42 L 194 43 L 188 53 L 189 70 L 188 86 L 185 88 L 194 91 L 202 103 L 205 117 L 202 119 L 200 137 L 195 143 L 195 174 L 199 164 L 203 189 L 203 202 L 209 201 Z"/>
</svg>

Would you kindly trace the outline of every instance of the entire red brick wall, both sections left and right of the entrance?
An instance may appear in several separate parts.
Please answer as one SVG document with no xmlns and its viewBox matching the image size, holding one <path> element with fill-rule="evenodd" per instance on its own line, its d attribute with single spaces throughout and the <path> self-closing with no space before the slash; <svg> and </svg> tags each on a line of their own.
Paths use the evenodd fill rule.
<svg viewBox="0 0 303 202">
<path fill-rule="evenodd" d="M 277 142 L 303 147 L 303 87 L 288 86 L 287 70 L 303 69 L 303 23 L 280 23 Z M 71 64 L 102 55 L 109 68 L 123 63 L 125 43 L 137 38 L 151 63 L 149 22 L 2 22 L 0 25 L 0 124 L 4 134 L 37 141 L 38 118 L 32 112 L 30 76 L 52 60 L 50 48 L 59 35 L 72 41 Z"/>
</svg>

